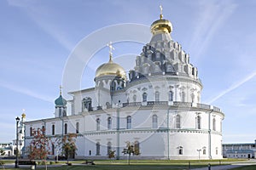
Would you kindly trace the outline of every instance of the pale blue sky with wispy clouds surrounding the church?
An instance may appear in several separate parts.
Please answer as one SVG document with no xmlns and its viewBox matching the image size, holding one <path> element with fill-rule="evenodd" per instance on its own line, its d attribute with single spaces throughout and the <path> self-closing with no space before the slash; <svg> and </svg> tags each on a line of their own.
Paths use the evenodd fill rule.
<svg viewBox="0 0 256 170">
<path fill-rule="evenodd" d="M 172 38 L 189 53 L 190 63 L 198 67 L 204 85 L 202 103 L 216 105 L 225 113 L 224 143 L 253 142 L 253 0 L 0 1 L 0 142 L 15 139 L 15 116 L 20 116 L 22 109 L 28 121 L 54 116 L 54 100 L 65 66 L 79 42 L 106 26 L 150 26 L 159 19 L 160 4 L 164 18 L 172 22 Z M 125 54 L 140 54 L 143 44 L 120 42 L 114 47 L 113 54 L 125 58 Z M 94 86 L 96 67 L 106 61 L 108 48 L 101 48 L 84 69 L 82 88 Z M 131 65 L 125 65 L 125 69 L 131 69 Z M 63 91 L 68 99 L 68 90 L 64 87 Z"/>
</svg>

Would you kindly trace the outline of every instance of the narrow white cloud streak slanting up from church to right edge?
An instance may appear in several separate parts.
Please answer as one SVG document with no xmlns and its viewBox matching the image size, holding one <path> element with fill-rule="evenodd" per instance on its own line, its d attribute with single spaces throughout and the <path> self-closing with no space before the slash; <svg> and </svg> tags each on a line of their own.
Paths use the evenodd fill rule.
<svg viewBox="0 0 256 170">
<path fill-rule="evenodd" d="M 224 91 L 222 91 L 221 93 L 219 93 L 216 97 L 214 97 L 213 99 L 208 101 L 207 104 L 212 104 L 214 101 L 216 101 L 219 98 L 223 97 L 225 94 L 230 93 L 232 90 L 235 90 L 236 88 L 239 88 L 242 84 L 248 82 L 249 80 L 251 80 L 255 76 L 256 76 L 256 71 L 254 71 L 250 75 L 247 75 L 247 77 L 244 77 L 243 79 L 241 79 L 241 81 L 233 84 L 232 86 L 230 86 L 230 88 L 227 88 Z"/>
</svg>

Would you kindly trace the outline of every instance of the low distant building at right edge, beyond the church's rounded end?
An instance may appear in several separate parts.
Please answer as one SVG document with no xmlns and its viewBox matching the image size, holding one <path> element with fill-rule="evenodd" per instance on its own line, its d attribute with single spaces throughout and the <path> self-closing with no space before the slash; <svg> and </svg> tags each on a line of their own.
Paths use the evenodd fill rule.
<svg viewBox="0 0 256 170">
<path fill-rule="evenodd" d="M 256 140 L 254 143 L 222 144 L 223 156 L 227 158 L 255 158 Z"/>
</svg>

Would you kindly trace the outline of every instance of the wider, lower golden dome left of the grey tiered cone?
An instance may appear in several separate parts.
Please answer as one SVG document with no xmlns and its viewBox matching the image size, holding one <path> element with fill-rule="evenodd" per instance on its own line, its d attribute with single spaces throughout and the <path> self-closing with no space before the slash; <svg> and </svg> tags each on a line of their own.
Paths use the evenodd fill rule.
<svg viewBox="0 0 256 170">
<path fill-rule="evenodd" d="M 119 76 L 126 80 L 126 74 L 125 74 L 124 68 L 114 63 L 112 60 L 112 56 L 110 56 L 108 63 L 105 63 L 99 66 L 96 70 L 96 77 L 102 77 L 102 76 L 108 76 L 108 75 Z"/>
</svg>

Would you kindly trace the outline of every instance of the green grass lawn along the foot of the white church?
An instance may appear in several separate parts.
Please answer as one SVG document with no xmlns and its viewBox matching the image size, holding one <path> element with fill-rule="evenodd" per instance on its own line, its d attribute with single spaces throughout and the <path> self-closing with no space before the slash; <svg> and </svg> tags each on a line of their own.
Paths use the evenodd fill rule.
<svg viewBox="0 0 256 170">
<path fill-rule="evenodd" d="M 221 163 L 222 165 L 230 164 L 237 161 L 246 161 L 245 159 L 224 159 L 224 160 L 201 160 L 200 162 L 198 160 L 131 160 L 131 165 L 127 165 L 126 160 L 102 160 L 102 161 L 94 161 L 96 163 L 96 166 L 90 166 L 90 165 L 73 165 L 73 166 L 67 166 L 67 161 L 60 161 L 59 167 L 48 167 L 49 170 L 67 170 L 67 169 L 74 169 L 74 170 L 80 170 L 80 169 L 88 169 L 88 170 L 153 170 L 153 169 L 168 169 L 168 170 L 182 170 L 182 169 L 188 169 L 189 168 L 189 162 L 191 168 L 196 167 L 207 167 L 208 163 L 211 163 L 212 166 L 219 165 Z M 7 163 L 14 163 L 14 161 L 6 161 Z M 47 161 L 49 164 L 49 161 Z M 70 161 L 73 164 L 75 163 L 82 163 L 84 161 Z M 55 164 L 55 163 L 54 163 Z M 62 165 L 60 165 L 62 164 Z M 22 166 L 20 166 L 22 167 Z M 23 166 L 24 167 L 24 166 Z M 1 166 L 0 166 L 0 169 Z M 8 168 L 5 168 L 8 169 Z M 15 169 L 15 168 L 9 168 L 9 169 Z M 19 168 L 19 170 L 25 170 L 30 169 L 30 167 L 26 168 Z M 38 166 L 37 169 L 45 169 L 43 165 Z M 237 168 L 236 170 L 241 169 Z M 242 170 L 251 170 L 256 169 L 255 166 L 248 169 L 242 169 Z"/>
</svg>

